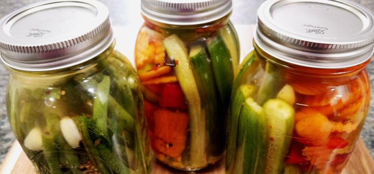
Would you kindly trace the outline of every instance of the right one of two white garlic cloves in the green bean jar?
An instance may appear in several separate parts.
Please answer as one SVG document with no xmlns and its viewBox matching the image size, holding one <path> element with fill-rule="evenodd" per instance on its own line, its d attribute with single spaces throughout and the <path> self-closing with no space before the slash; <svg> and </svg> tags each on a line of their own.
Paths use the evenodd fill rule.
<svg viewBox="0 0 374 174">
<path fill-rule="evenodd" d="M 66 142 L 68 142 L 72 148 L 78 148 L 82 136 L 80 135 L 78 127 L 75 125 L 74 121 L 69 117 L 61 119 L 60 129 L 61 132 L 63 132 Z"/>
</svg>

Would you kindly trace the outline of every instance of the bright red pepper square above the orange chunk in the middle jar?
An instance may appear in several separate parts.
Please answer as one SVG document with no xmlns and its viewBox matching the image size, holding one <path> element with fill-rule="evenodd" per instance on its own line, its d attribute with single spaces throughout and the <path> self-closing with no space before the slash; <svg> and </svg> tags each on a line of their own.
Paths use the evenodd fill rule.
<svg viewBox="0 0 374 174">
<path fill-rule="evenodd" d="M 179 84 L 170 83 L 164 85 L 160 98 L 160 106 L 165 108 L 177 108 L 185 110 L 187 105 L 185 103 L 184 94 Z"/>
</svg>

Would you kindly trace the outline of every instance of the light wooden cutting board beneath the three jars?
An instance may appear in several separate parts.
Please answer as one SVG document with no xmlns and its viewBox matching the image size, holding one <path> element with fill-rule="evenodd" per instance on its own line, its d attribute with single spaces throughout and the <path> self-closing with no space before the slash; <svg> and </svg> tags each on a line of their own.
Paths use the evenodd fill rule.
<svg viewBox="0 0 374 174">
<path fill-rule="evenodd" d="M 225 173 L 225 165 L 223 161 L 217 162 L 215 165 L 209 166 L 201 171 L 181 172 L 162 164 L 157 160 L 153 160 L 152 173 L 206 173 L 218 174 Z M 0 174 L 36 174 L 33 165 L 23 153 L 18 142 L 15 142 L 0 166 Z M 374 160 L 361 139 L 358 140 L 356 148 L 352 156 L 343 170 L 342 174 L 374 174 Z"/>
</svg>

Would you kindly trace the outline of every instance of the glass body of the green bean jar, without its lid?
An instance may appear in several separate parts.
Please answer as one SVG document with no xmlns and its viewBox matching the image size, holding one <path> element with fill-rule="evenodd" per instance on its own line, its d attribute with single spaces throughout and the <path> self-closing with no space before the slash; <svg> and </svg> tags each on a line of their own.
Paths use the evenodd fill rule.
<svg viewBox="0 0 374 174">
<path fill-rule="evenodd" d="M 50 72 L 9 68 L 11 127 L 39 173 L 149 173 L 139 80 L 114 43 Z"/>
</svg>

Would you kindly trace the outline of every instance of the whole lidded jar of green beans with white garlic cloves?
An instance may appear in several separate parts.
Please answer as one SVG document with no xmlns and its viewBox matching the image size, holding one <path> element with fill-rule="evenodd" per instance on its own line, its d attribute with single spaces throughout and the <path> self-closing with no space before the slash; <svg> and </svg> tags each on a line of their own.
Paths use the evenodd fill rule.
<svg viewBox="0 0 374 174">
<path fill-rule="evenodd" d="M 150 172 L 140 81 L 103 4 L 46 1 L 0 24 L 8 118 L 39 173 Z"/>
</svg>

